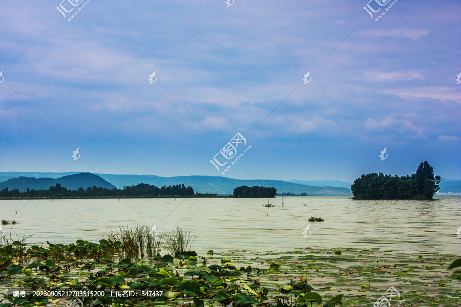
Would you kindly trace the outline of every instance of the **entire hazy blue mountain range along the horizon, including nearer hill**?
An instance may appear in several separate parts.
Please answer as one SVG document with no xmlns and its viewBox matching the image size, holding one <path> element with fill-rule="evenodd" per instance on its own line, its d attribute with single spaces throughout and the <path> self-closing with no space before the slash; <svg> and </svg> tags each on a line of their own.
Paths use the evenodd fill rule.
<svg viewBox="0 0 461 307">
<path fill-rule="evenodd" d="M 216 176 L 159 177 L 155 175 L 115 175 L 78 172 L 0 172 L 0 189 L 4 189 L 5 187 L 8 187 L 10 190 L 17 188 L 19 191 L 26 191 L 27 188 L 35 190 L 48 189 L 50 186 L 56 185 L 56 183 L 72 190 L 76 190 L 79 187 L 86 189 L 89 186 L 109 189 L 117 187 L 120 189 L 124 186 L 148 183 L 158 187 L 184 184 L 185 186 L 192 186 L 199 193 L 213 193 L 218 195 L 232 194 L 234 188 L 242 185 L 275 187 L 279 195 L 288 192 L 294 194 L 307 193 L 308 195 L 315 196 L 352 195 L 350 190 L 351 183 L 338 180 L 281 181 L 240 180 Z M 461 193 L 461 180 L 442 179 L 439 193 Z"/>
</svg>

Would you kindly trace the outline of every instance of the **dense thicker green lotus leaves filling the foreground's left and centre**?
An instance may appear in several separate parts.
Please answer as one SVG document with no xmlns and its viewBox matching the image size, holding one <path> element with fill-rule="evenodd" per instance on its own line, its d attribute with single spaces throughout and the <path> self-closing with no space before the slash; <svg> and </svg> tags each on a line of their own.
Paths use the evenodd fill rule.
<svg viewBox="0 0 461 307">
<path fill-rule="evenodd" d="M 0 249 L 0 278 L 11 280 L 14 287 L 41 289 L 44 291 L 98 291 L 98 295 L 82 297 L 85 305 L 148 307 L 159 303 L 204 307 L 212 304 L 233 304 L 236 307 L 307 307 L 320 304 L 322 296 L 312 292 L 306 276 L 293 286 L 273 289 L 261 287 L 259 280 L 250 278 L 260 269 L 250 266 L 237 268 L 232 262 L 223 266 L 206 266 L 206 258 L 197 265 L 197 255 L 193 251 L 171 255 L 157 255 L 150 262 L 144 259 L 137 263 L 130 258 L 113 258 L 121 243 L 111 239 L 100 240 L 99 244 L 77 240 L 75 244 L 47 247 L 27 247 L 24 242 L 13 242 Z M 20 258 L 20 259 L 19 259 Z M 18 261 L 19 260 L 19 261 Z M 19 264 L 13 264 L 19 262 Z M 269 268 L 269 272 L 273 266 Z M 280 265 L 276 266 L 277 270 Z M 180 271 L 182 276 L 178 274 Z M 246 275 L 243 280 L 242 275 Z M 14 280 L 14 281 L 13 281 Z M 242 281 L 236 283 L 236 281 Z M 111 290 L 133 290 L 133 297 L 113 297 Z M 142 292 L 154 292 L 155 296 L 143 296 Z M 7 302 L 2 307 L 13 305 L 43 306 L 56 303 L 59 297 L 5 295 Z M 295 300 L 293 300 L 295 298 Z M 69 297 L 68 299 L 71 299 Z M 341 304 L 343 295 L 328 297 L 323 305 Z"/>
</svg>

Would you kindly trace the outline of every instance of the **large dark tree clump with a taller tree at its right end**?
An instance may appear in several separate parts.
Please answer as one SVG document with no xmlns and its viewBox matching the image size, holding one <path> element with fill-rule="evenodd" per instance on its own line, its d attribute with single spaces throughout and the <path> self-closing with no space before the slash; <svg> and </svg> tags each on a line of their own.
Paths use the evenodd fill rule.
<svg viewBox="0 0 461 307">
<path fill-rule="evenodd" d="M 438 191 L 440 176 L 427 161 L 421 162 L 410 176 L 363 174 L 351 186 L 354 200 L 432 200 Z"/>
</svg>

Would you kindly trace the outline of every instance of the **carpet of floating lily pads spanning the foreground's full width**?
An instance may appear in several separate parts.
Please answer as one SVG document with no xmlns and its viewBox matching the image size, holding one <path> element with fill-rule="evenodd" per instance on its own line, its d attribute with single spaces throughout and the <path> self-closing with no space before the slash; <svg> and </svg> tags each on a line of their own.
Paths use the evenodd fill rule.
<svg viewBox="0 0 461 307">
<path fill-rule="evenodd" d="M 342 249 L 345 256 L 341 260 L 348 263 L 343 262 L 347 268 L 340 268 L 335 263 L 338 260 L 338 256 L 334 256 L 335 249 L 312 247 L 311 251 L 304 251 L 299 255 L 288 252 L 290 255 L 282 255 L 277 260 L 273 257 L 274 254 L 270 254 L 267 258 L 261 256 L 259 259 L 250 259 L 245 258 L 238 251 L 229 252 L 223 254 L 222 265 L 218 265 L 221 257 L 211 259 L 206 255 L 198 257 L 193 251 L 179 253 L 178 255 L 185 259 L 181 259 L 179 263 L 169 254 L 141 260 L 123 258 L 117 262 L 110 261 L 108 259 L 111 253 L 110 247 L 115 247 L 118 251 L 116 248 L 118 244 L 112 239 L 102 239 L 99 244 L 77 240 L 76 243 L 69 245 L 48 243 L 48 246 L 32 247 L 22 246 L 20 242 L 15 243 L 11 240 L 9 243 L 11 245 L 0 248 L 0 263 L 4 264 L 0 266 L 1 287 L 41 288 L 47 291 L 80 291 L 87 288 L 101 291 L 103 294 L 99 296 L 83 299 L 85 305 L 94 307 L 103 305 L 205 307 L 218 304 L 229 306 L 231 303 L 231 306 L 235 307 L 312 307 L 324 301 L 326 301 L 324 307 L 338 307 L 345 298 L 342 294 L 337 295 L 340 291 L 367 292 L 347 295 L 345 305 L 368 306 L 373 304 L 377 296 L 384 293 L 387 286 L 382 286 L 382 283 L 387 284 L 389 278 L 393 276 L 397 276 L 393 282 L 397 283 L 395 287 L 399 290 L 403 285 L 401 282 L 405 281 L 412 287 L 410 291 L 405 290 L 407 304 L 419 303 L 424 299 L 425 305 L 436 307 L 440 305 L 437 297 L 444 296 L 444 306 L 459 305 L 456 284 L 460 271 L 446 273 L 445 270 L 437 270 L 437 272 L 426 270 L 429 266 L 442 268 L 441 260 L 446 260 L 448 267 L 449 262 L 454 260 L 454 255 L 444 256 L 446 258 L 439 258 L 439 255 L 425 256 L 425 265 L 421 266 L 419 258 L 404 254 L 384 256 L 386 254 L 373 251 L 370 256 L 359 256 L 361 251 L 358 249 Z M 119 244 L 121 245 L 121 242 Z M 15 249 L 22 251 L 23 264 L 16 263 L 17 259 L 14 257 L 19 254 Z M 312 252 L 314 254 L 307 254 Z M 115 252 L 114 255 L 117 253 Z M 11 261 L 3 262 L 4 257 Z M 99 261 L 91 257 L 99 257 Z M 377 257 L 383 262 L 402 263 L 399 264 L 399 268 L 393 265 L 376 268 L 374 260 Z M 195 261 L 199 258 L 208 259 L 211 265 L 201 266 L 201 261 Z M 261 268 L 260 265 L 263 267 Z M 270 269 L 267 270 L 269 265 Z M 416 269 L 416 266 L 421 269 Z M 414 270 L 405 273 L 401 272 L 402 268 L 414 268 Z M 250 277 L 252 273 L 258 277 Z M 389 273 L 392 277 L 387 275 Z M 423 276 L 424 283 L 418 280 Z M 312 286 L 317 285 L 314 286 L 316 290 L 307 283 L 311 279 L 315 280 Z M 374 282 L 373 287 L 370 286 L 370 281 Z M 426 290 L 426 283 L 438 284 L 439 287 Z M 156 291 L 158 296 L 110 297 L 109 288 Z M 317 292 L 324 292 L 324 294 Z M 12 294 L 7 294 L 4 298 L 3 307 L 14 304 L 25 307 L 53 305 L 58 299 L 61 300 L 59 303 L 66 303 L 63 301 L 66 299 L 54 296 L 14 297 Z"/>
</svg>

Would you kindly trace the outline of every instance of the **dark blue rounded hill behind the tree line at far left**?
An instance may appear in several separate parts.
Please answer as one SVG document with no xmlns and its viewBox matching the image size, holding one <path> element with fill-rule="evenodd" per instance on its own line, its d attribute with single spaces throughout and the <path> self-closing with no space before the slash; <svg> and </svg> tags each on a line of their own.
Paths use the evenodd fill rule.
<svg viewBox="0 0 461 307">
<path fill-rule="evenodd" d="M 33 177 L 18 177 L 11 178 L 7 181 L 0 182 L 0 190 L 8 188 L 10 191 L 18 189 L 19 192 L 25 192 L 29 190 L 48 190 L 51 186 L 55 186 L 59 183 L 62 187 L 70 190 L 78 190 L 82 187 L 86 189 L 88 187 L 103 187 L 113 189 L 115 186 L 101 177 L 92 173 L 77 173 L 68 175 L 60 178 L 33 178 Z"/>
</svg>

